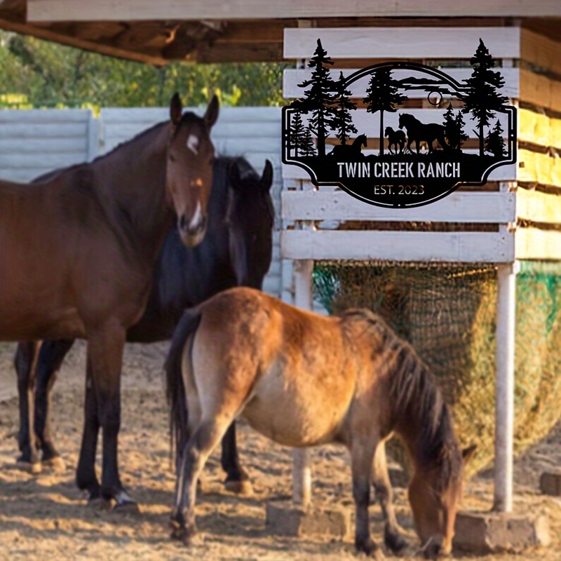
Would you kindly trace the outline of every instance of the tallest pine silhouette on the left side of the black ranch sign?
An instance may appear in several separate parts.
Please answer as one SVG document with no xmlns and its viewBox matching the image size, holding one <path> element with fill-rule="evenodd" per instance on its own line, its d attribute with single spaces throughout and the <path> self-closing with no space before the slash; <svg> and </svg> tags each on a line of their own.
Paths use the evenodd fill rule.
<svg viewBox="0 0 561 561">
<path fill-rule="evenodd" d="M 311 86 L 304 92 L 306 99 L 299 103 L 299 107 L 306 113 L 311 111 L 310 124 L 318 138 L 318 156 L 325 156 L 325 138 L 333 127 L 337 114 L 337 84 L 331 79 L 329 68 L 325 66 L 332 64 L 327 50 L 318 39 L 318 46 L 308 63 L 314 69 L 311 79 L 298 84 L 301 88 Z"/>
</svg>

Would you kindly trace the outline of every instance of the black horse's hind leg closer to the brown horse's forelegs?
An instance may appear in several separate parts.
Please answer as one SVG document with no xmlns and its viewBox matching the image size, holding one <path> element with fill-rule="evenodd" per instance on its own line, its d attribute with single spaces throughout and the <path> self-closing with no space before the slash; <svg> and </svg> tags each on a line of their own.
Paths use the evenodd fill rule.
<svg viewBox="0 0 561 561">
<path fill-rule="evenodd" d="M 65 469 L 65 463 L 53 444 L 50 431 L 50 393 L 62 361 L 73 344 L 73 339 L 43 342 L 36 368 L 35 433 L 41 446 L 41 462 L 60 471 Z"/>
</svg>

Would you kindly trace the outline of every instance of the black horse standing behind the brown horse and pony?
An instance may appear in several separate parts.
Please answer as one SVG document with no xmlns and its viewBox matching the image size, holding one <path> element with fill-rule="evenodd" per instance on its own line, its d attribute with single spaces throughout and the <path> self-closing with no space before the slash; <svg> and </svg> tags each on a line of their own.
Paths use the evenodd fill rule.
<svg viewBox="0 0 561 561">
<path fill-rule="evenodd" d="M 272 257 L 272 181 L 269 161 L 259 178 L 244 158 L 217 158 L 205 238 L 188 249 L 177 228 L 170 229 L 158 258 L 144 316 L 128 330 L 128 342 L 170 339 L 185 308 L 221 290 L 235 286 L 262 288 Z M 50 391 L 72 344 L 73 339 L 20 343 L 15 354 L 20 396 L 18 461 L 34 472 L 41 471 L 41 462 L 64 466 L 50 431 Z M 250 485 L 238 461 L 234 424 L 224 436 L 222 466 L 229 489 L 242 492 Z"/>
</svg>

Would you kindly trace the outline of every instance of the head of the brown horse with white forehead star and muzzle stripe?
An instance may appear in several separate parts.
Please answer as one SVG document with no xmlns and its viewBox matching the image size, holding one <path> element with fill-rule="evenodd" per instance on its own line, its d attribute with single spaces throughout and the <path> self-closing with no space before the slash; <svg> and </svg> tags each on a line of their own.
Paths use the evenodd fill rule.
<svg viewBox="0 0 561 561">
<path fill-rule="evenodd" d="M 188 247 L 200 243 L 206 231 L 215 158 L 210 129 L 218 119 L 218 110 L 216 96 L 202 118 L 194 113 L 182 114 L 177 93 L 170 102 L 165 191 L 177 215 L 182 242 Z"/>
</svg>

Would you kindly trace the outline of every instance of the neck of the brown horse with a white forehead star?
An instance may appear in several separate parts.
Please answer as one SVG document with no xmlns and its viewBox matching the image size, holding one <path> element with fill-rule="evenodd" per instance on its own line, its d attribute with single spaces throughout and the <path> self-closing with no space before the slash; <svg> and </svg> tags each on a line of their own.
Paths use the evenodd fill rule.
<svg viewBox="0 0 561 561">
<path fill-rule="evenodd" d="M 130 245 L 156 258 L 173 222 L 165 192 L 168 123 L 161 123 L 90 164 L 112 226 Z"/>
</svg>

